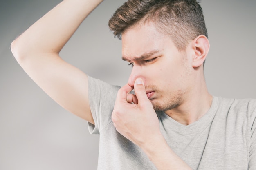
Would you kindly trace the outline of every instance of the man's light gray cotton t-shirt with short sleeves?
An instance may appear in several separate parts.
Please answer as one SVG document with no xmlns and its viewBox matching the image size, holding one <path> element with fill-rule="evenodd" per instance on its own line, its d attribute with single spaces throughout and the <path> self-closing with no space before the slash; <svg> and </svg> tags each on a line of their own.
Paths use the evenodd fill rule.
<svg viewBox="0 0 256 170">
<path fill-rule="evenodd" d="M 100 134 L 98 170 L 156 170 L 145 153 L 111 120 L 119 86 L 89 77 L 89 100 Z M 162 135 L 193 170 L 256 170 L 256 100 L 213 97 L 209 111 L 187 126 L 157 112 Z M 170 160 L 171 161 L 171 160 Z"/>
</svg>

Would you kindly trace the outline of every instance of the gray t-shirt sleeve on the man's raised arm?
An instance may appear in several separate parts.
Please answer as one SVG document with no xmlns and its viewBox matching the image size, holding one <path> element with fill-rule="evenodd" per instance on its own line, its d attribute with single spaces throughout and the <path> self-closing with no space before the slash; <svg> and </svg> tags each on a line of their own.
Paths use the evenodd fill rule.
<svg viewBox="0 0 256 170">
<path fill-rule="evenodd" d="M 101 129 L 112 122 L 111 115 L 120 86 L 113 86 L 88 76 L 89 104 L 94 124 L 88 122 L 91 134 L 100 134 Z"/>
</svg>

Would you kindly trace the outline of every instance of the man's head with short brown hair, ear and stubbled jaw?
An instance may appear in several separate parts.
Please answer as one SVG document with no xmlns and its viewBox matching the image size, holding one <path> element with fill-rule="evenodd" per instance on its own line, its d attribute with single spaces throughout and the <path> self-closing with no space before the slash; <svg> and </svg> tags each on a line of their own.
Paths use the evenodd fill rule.
<svg viewBox="0 0 256 170">
<path fill-rule="evenodd" d="M 128 84 L 143 79 L 155 110 L 177 108 L 206 89 L 209 42 L 195 0 L 129 0 L 109 25 L 122 39 L 123 60 L 133 66 Z"/>
</svg>

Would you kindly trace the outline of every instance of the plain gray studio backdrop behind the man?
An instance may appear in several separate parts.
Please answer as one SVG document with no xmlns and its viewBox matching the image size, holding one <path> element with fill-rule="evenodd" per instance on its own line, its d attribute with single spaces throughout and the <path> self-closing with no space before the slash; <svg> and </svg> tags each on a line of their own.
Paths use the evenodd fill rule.
<svg viewBox="0 0 256 170">
<path fill-rule="evenodd" d="M 61 0 L 0 4 L 0 170 L 95 170 L 99 136 L 48 97 L 10 51 L 14 38 Z M 123 86 L 131 67 L 108 19 L 124 0 L 105 0 L 81 24 L 61 57 L 88 75 Z M 256 0 L 202 0 L 211 44 L 205 77 L 212 95 L 256 98 Z M 111 155 L 110 155 L 111 156 Z"/>
</svg>

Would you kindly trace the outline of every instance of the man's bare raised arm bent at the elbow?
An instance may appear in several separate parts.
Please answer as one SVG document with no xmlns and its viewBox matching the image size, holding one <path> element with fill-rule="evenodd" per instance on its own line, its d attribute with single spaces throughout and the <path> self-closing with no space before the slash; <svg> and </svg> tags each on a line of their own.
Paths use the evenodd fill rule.
<svg viewBox="0 0 256 170">
<path fill-rule="evenodd" d="M 88 77 L 59 57 L 81 22 L 103 0 L 63 0 L 11 43 L 25 72 L 63 108 L 94 124 Z"/>
</svg>

